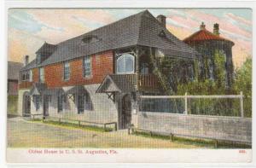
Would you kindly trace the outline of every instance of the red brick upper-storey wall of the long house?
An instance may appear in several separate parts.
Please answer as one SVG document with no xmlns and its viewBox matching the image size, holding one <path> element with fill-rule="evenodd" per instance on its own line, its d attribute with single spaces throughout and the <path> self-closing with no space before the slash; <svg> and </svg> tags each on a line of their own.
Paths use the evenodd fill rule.
<svg viewBox="0 0 256 168">
<path fill-rule="evenodd" d="M 92 55 L 91 57 L 91 77 L 84 78 L 83 57 L 69 61 L 70 78 L 63 79 L 64 63 L 60 62 L 44 67 L 44 83 L 49 88 L 82 85 L 101 84 L 107 74 L 113 73 L 113 51 Z M 38 68 L 33 69 L 33 82 L 38 82 Z M 20 88 L 23 86 L 22 82 Z M 23 87 L 24 88 L 24 87 Z"/>
</svg>

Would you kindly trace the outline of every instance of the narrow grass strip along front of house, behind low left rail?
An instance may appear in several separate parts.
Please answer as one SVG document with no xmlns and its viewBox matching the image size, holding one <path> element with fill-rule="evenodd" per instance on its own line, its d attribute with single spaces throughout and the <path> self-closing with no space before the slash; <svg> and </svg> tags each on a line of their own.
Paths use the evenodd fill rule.
<svg viewBox="0 0 256 168">
<path fill-rule="evenodd" d="M 44 123 L 47 125 L 57 125 L 57 126 L 63 126 L 63 127 L 68 127 L 68 128 L 78 128 L 78 129 L 82 129 L 82 130 L 94 130 L 94 131 L 100 131 L 100 132 L 109 132 L 112 131 L 112 128 L 106 128 L 104 130 L 104 128 L 100 127 L 100 126 L 96 126 L 96 125 L 78 125 L 75 123 L 67 123 L 67 122 L 59 122 L 59 121 L 54 121 L 54 120 L 44 120 L 44 122 L 42 121 L 42 119 L 32 119 L 32 122 L 40 122 L 40 123 Z"/>
</svg>

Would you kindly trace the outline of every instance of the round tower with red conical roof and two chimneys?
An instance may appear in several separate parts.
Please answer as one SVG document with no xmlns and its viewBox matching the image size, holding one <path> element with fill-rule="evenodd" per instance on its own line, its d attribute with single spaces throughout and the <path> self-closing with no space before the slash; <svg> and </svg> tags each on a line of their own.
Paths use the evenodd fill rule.
<svg viewBox="0 0 256 168">
<path fill-rule="evenodd" d="M 216 78 L 214 54 L 216 54 L 216 51 L 221 52 L 225 56 L 226 86 L 230 88 L 234 73 L 232 47 L 235 43 L 229 39 L 222 38 L 219 34 L 218 23 L 214 24 L 213 31 L 209 32 L 202 22 L 200 30 L 185 38 L 183 42 L 188 43 L 201 54 L 197 58 L 201 79 L 211 78 L 214 80 Z"/>
</svg>

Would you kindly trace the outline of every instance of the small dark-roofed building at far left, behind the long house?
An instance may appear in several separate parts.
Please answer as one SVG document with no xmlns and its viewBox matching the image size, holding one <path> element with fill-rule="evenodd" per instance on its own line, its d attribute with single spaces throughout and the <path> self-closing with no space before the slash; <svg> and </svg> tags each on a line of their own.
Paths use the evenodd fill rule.
<svg viewBox="0 0 256 168">
<path fill-rule="evenodd" d="M 21 67 L 23 67 L 23 64 L 20 62 L 8 61 L 7 94 L 9 96 L 18 95 L 18 86 L 19 86 Z"/>
</svg>

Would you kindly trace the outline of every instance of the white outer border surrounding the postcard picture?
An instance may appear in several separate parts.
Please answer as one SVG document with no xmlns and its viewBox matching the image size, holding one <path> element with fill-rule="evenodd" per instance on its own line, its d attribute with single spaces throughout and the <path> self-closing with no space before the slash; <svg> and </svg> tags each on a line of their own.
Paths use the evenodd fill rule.
<svg viewBox="0 0 256 168">
<path fill-rule="evenodd" d="M 1 69 L 3 71 L 0 71 L 1 77 L 4 79 L 1 82 L 1 99 L 0 99 L 0 107 L 2 107 L 1 111 L 1 117 L 0 117 L 0 123 L 1 128 L 3 128 L 0 133 L 1 133 L 1 141 L 0 141 L 0 150 L 1 150 L 1 155 L 0 155 L 0 161 L 1 161 L 1 167 L 6 167 L 6 162 L 5 162 L 5 145 L 6 145 L 6 85 L 7 83 L 7 12 L 9 8 L 250 8 L 253 9 L 253 11 L 256 9 L 255 8 L 255 2 L 253 1 L 179 1 L 179 2 L 174 2 L 174 1 L 165 1 L 165 0 L 159 0 L 159 1 L 146 1 L 146 0 L 140 0 L 140 1 L 122 1 L 122 0 L 98 0 L 98 1 L 91 1 L 91 0 L 85 0 L 85 1 L 50 1 L 50 0 L 32 0 L 32 1 L 9 1 L 7 0 L 5 4 L 3 5 L 3 1 L 0 1 L 0 12 L 1 12 L 1 18 L 3 20 L 3 24 L 0 24 L 1 26 L 1 32 L 3 32 L 3 36 L 1 35 L 0 37 L 2 38 L 0 40 L 0 52 L 2 56 L 2 61 L 1 61 Z M 255 12 L 253 12 L 253 25 L 255 24 Z M 253 26 L 254 28 L 254 26 Z M 253 33 L 253 43 L 255 43 L 255 33 Z M 255 53 L 255 49 L 253 48 L 253 55 Z M 253 59 L 253 83 L 255 82 L 255 67 L 256 63 Z M 253 85 L 253 96 L 255 94 L 255 89 Z M 254 99 L 253 99 L 253 102 Z M 254 103 L 253 103 L 254 104 Z M 255 111 L 255 107 L 253 106 L 253 112 Z M 254 116 L 254 115 L 253 115 Z M 255 139 L 255 118 L 253 117 L 253 140 Z M 5 137 L 5 138 L 4 138 Z M 253 147 L 256 145 L 255 141 L 253 141 Z M 232 150 L 232 149 L 230 149 Z M 254 152 L 253 148 L 253 152 Z M 203 154 L 203 149 L 200 151 L 201 154 Z M 222 154 L 224 153 L 223 151 L 219 151 Z M 256 165 L 255 163 L 255 154 L 253 154 L 253 162 L 252 163 L 247 163 L 247 164 L 224 164 L 224 163 L 214 163 L 214 164 L 185 164 L 185 165 L 191 165 L 191 166 L 253 166 Z M 9 164 L 9 165 L 15 165 L 15 164 Z M 41 164 L 18 164 L 18 165 L 41 165 Z M 56 164 L 44 164 L 47 166 L 53 166 Z M 63 164 L 57 164 L 58 166 L 64 166 Z M 67 166 L 81 166 L 81 165 L 87 165 L 89 167 L 95 167 L 95 166 L 104 166 L 102 164 L 94 164 L 92 166 L 91 164 L 72 164 L 72 165 L 67 165 Z M 122 166 L 127 166 L 131 164 L 107 164 L 108 166 L 117 166 L 117 165 L 122 165 Z M 134 165 L 134 164 L 132 164 Z M 144 167 L 148 166 L 148 163 L 144 164 L 136 164 L 137 166 Z M 170 167 L 170 164 L 150 164 L 152 167 L 155 166 L 161 166 L 161 167 Z M 182 166 L 183 164 L 171 164 L 175 166 Z M 83 166 L 84 167 L 84 166 Z"/>
</svg>

